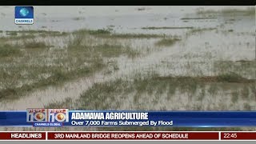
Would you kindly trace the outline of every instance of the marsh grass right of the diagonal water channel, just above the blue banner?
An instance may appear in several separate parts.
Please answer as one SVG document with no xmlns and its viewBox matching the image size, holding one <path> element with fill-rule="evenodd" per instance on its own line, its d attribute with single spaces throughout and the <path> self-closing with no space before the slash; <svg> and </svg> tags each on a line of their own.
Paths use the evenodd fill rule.
<svg viewBox="0 0 256 144">
<path fill-rule="evenodd" d="M 211 78 L 217 79 L 217 81 L 210 82 L 209 79 Z M 244 89 L 241 92 L 238 92 L 235 87 L 222 87 L 222 82 L 230 84 L 234 83 L 234 81 L 230 81 L 230 79 L 234 78 L 226 78 L 226 76 L 223 78 L 222 75 L 216 77 L 163 77 L 154 73 L 149 75 L 135 74 L 134 78 L 117 78 L 110 82 L 95 83 L 89 90 L 86 90 L 81 95 L 78 101 L 74 102 L 76 105 L 75 107 L 72 107 L 72 109 L 118 110 L 120 109 L 120 105 L 122 105 L 121 103 L 118 103 L 118 101 L 125 101 L 126 97 L 129 96 L 133 103 L 131 106 L 132 109 L 145 110 L 146 103 L 141 103 L 144 95 L 146 95 L 148 98 L 147 100 L 150 100 L 152 105 L 154 105 L 164 98 L 166 98 L 166 101 L 171 101 L 170 98 L 174 96 L 177 97 L 177 95 L 175 95 L 177 92 L 178 95 L 187 95 L 187 97 L 191 99 L 190 101 L 194 98 L 193 102 L 195 100 L 202 102 L 203 99 L 206 98 L 206 95 L 210 94 L 214 97 L 218 92 L 226 91 L 226 89 L 234 91 L 230 94 L 233 103 L 238 102 L 240 94 L 249 95 L 250 90 L 248 91 Z M 254 83 L 246 84 L 237 81 L 235 82 L 239 84 L 237 87 L 250 87 L 254 85 Z M 223 84 L 223 86 L 230 84 Z M 198 94 L 200 90 L 203 90 L 203 93 Z M 167 95 L 167 97 L 165 97 L 165 95 Z M 248 105 L 249 104 L 247 104 L 247 108 Z M 50 106 L 54 106 L 54 103 L 51 103 Z M 58 103 L 58 106 L 67 107 L 70 106 L 70 103 Z M 154 107 L 154 110 L 159 110 L 159 107 Z M 202 110 L 202 107 L 198 105 L 198 107 L 190 107 L 190 110 Z"/>
</svg>

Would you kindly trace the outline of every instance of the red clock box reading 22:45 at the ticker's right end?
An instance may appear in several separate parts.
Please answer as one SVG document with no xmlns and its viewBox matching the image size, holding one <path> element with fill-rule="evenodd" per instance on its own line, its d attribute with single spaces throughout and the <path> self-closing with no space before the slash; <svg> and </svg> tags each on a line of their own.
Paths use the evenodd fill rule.
<svg viewBox="0 0 256 144">
<path fill-rule="evenodd" d="M 256 140 L 256 132 L 222 132 L 222 140 Z"/>
</svg>

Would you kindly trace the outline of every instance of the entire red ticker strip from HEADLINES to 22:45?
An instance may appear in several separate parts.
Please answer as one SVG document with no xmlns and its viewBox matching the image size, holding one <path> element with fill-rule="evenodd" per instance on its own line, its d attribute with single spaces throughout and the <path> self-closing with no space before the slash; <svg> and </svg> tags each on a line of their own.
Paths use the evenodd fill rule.
<svg viewBox="0 0 256 144">
<path fill-rule="evenodd" d="M 112 132 L 0 132 L 1 140 L 252 140 L 256 141 L 256 132 L 175 132 L 175 131 L 112 131 Z"/>
</svg>

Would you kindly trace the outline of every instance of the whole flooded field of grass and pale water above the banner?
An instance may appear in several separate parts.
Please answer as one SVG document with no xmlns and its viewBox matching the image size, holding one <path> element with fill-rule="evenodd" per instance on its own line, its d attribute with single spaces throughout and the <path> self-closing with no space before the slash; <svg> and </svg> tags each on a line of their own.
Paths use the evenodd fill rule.
<svg viewBox="0 0 256 144">
<path fill-rule="evenodd" d="M 1 7 L 0 110 L 256 110 L 254 6 L 58 8 Z"/>
</svg>

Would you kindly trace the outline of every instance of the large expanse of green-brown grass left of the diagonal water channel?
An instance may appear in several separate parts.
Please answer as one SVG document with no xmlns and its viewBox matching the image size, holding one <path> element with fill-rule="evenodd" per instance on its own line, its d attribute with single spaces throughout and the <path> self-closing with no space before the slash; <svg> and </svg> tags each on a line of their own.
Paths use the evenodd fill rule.
<svg viewBox="0 0 256 144">
<path fill-rule="evenodd" d="M 135 58 L 140 55 L 139 50 L 131 48 L 129 45 L 122 45 L 112 39 L 106 39 L 106 42 L 100 43 L 92 37 L 102 39 L 99 35 L 111 36 L 108 30 L 74 31 L 64 41 L 66 42 L 65 47 L 61 49 L 55 47 L 51 51 L 47 49 L 50 47 L 49 42 L 34 37 L 29 38 L 29 36 L 32 36 L 31 34 L 33 36 L 38 34 L 52 36 L 62 33 L 44 30 L 39 30 L 38 33 L 34 30 L 18 31 L 17 33 L 30 34 L 24 35 L 27 39 L 21 39 L 19 45 L 0 46 L 0 56 L 4 58 L 2 59 L 4 65 L 0 66 L 2 74 L 0 74 L 0 99 L 19 98 L 33 90 L 46 86 L 59 86 L 72 79 L 93 74 L 107 66 L 103 60 L 106 58 L 115 58 L 121 55 Z M 132 38 L 134 35 L 119 34 L 113 37 L 119 36 Z M 22 38 L 22 36 L 12 38 L 15 39 L 15 37 Z M 137 35 L 138 37 L 146 36 Z M 26 55 L 26 57 L 14 59 L 14 56 L 18 54 Z M 15 64 L 10 65 L 14 61 Z M 114 70 L 117 69 L 118 66 L 114 66 Z"/>
</svg>

